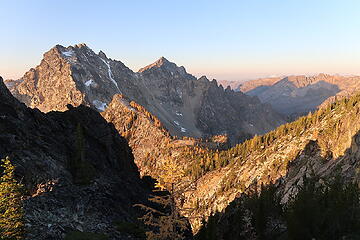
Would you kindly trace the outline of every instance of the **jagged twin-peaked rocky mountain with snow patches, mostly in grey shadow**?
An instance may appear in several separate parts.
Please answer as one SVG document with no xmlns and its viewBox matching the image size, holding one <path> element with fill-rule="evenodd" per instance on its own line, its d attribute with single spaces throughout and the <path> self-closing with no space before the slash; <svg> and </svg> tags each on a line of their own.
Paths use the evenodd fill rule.
<svg viewBox="0 0 360 240">
<path fill-rule="evenodd" d="M 44 112 L 64 111 L 67 104 L 81 103 L 104 111 L 115 94 L 123 94 L 176 136 L 228 134 L 236 143 L 283 123 L 279 114 L 256 97 L 225 91 L 205 77 L 196 79 L 164 57 L 135 73 L 85 44 L 57 45 L 44 54 L 39 66 L 7 85 L 27 106 Z M 222 122 L 224 114 L 230 125 Z"/>
</svg>

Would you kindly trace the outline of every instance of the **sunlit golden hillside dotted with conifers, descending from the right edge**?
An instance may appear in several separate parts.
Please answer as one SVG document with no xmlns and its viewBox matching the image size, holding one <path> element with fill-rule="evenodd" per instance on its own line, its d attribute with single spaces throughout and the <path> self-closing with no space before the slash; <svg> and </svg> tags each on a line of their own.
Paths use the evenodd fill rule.
<svg viewBox="0 0 360 240">
<path fill-rule="evenodd" d="M 222 211 L 249 186 L 280 181 L 282 202 L 297 192 L 304 176 L 325 178 L 340 174 L 348 181 L 359 166 L 360 96 L 337 101 L 312 115 L 220 152 L 194 149 L 188 169 L 196 181 L 186 207 L 193 229 L 196 216 Z M 353 137 L 355 136 L 355 137 Z M 316 145 L 315 147 L 313 145 Z M 309 149 L 317 149 L 310 151 Z"/>
</svg>

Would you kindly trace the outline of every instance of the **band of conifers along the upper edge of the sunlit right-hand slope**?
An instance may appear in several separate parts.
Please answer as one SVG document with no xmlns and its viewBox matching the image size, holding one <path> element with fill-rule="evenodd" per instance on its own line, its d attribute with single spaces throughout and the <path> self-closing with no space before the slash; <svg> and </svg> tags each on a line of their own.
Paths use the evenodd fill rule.
<svg viewBox="0 0 360 240">
<path fill-rule="evenodd" d="M 300 117 L 294 122 L 281 125 L 277 129 L 264 134 L 255 136 L 233 148 L 224 151 L 210 150 L 200 147 L 185 149 L 185 157 L 191 159 L 191 166 L 188 167 L 186 174 L 198 179 L 209 171 L 213 171 L 227 165 L 242 164 L 248 157 L 257 152 L 264 152 L 277 140 L 282 138 L 297 138 L 310 129 L 319 129 L 317 140 L 323 151 L 323 156 L 340 156 L 343 152 L 343 145 L 346 144 L 344 138 L 348 136 L 344 131 L 360 115 L 360 95 L 350 98 L 343 98 L 325 108 L 321 108 L 307 116 Z M 335 118 L 335 115 L 347 114 L 348 118 Z M 326 123 L 324 120 L 326 119 Z M 325 124 L 325 125 L 323 125 Z M 314 130 L 315 131 L 315 130 Z M 292 157 L 295 157 L 296 153 Z M 265 160 L 267 155 L 262 156 Z M 292 159 L 289 159 L 290 161 Z"/>
</svg>

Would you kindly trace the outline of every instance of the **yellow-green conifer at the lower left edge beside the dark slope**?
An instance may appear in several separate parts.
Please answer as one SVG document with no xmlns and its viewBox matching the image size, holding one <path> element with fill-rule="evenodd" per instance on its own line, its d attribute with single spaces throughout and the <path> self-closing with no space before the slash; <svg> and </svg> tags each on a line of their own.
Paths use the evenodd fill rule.
<svg viewBox="0 0 360 240">
<path fill-rule="evenodd" d="M 24 235 L 23 185 L 14 177 L 15 167 L 6 157 L 1 160 L 4 172 L 0 178 L 0 238 L 22 239 Z"/>
</svg>

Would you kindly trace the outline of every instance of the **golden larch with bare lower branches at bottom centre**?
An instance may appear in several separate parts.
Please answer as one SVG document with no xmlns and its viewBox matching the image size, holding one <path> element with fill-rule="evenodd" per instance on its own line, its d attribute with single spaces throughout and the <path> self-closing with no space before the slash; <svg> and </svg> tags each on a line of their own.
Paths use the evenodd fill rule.
<svg viewBox="0 0 360 240">
<path fill-rule="evenodd" d="M 149 200 L 160 205 L 163 210 L 158 210 L 149 206 L 138 204 L 146 211 L 141 218 L 148 226 L 154 227 L 157 231 L 149 231 L 146 233 L 148 240 L 162 239 L 184 239 L 188 230 L 188 222 L 186 218 L 181 216 L 181 210 L 176 201 L 182 201 L 184 193 L 188 190 L 184 186 L 182 178 L 185 172 L 172 160 L 166 161 L 161 167 L 155 185 L 157 194 L 149 198 Z M 168 194 L 165 194 L 168 192 Z"/>
</svg>

